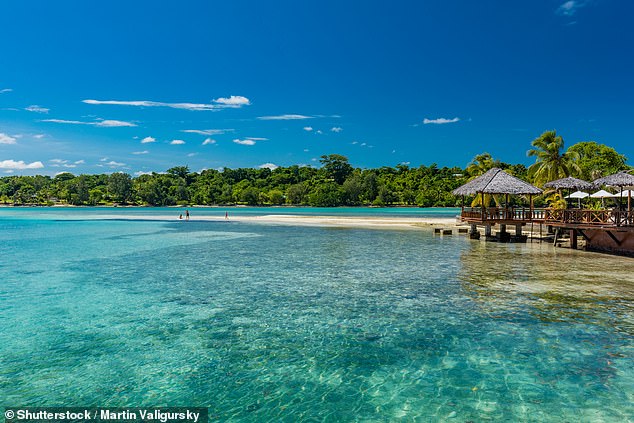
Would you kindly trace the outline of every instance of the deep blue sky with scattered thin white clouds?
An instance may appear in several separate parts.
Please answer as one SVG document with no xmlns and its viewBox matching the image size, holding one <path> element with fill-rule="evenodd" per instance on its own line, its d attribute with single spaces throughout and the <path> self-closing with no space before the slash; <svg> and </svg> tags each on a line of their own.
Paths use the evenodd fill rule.
<svg viewBox="0 0 634 423">
<path fill-rule="evenodd" d="M 634 158 L 634 3 L 31 1 L 0 15 L 0 175 Z M 630 164 L 632 161 L 630 160 Z"/>
</svg>

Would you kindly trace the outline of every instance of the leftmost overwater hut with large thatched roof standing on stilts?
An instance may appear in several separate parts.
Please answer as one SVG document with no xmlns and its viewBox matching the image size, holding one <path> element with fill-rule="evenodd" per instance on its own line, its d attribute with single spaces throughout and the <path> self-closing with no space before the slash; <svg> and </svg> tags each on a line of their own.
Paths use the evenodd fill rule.
<svg viewBox="0 0 634 423">
<path fill-rule="evenodd" d="M 507 224 L 515 225 L 516 236 L 521 236 L 521 228 L 527 222 L 533 221 L 536 217 L 533 210 L 533 195 L 539 195 L 543 191 L 528 182 L 522 181 L 515 176 L 509 175 L 499 168 L 493 168 L 481 176 L 467 182 L 463 186 L 453 190 L 454 195 L 463 197 L 467 195 L 480 195 L 482 198 L 481 207 L 462 207 L 460 218 L 463 222 L 471 224 L 471 235 L 477 238 L 477 225 L 485 226 L 485 234 L 490 235 L 491 226 L 500 225 L 499 237 L 501 241 L 506 240 L 505 230 Z M 484 196 L 504 195 L 506 201 L 503 207 L 487 207 L 484 204 Z M 528 195 L 528 208 L 514 208 L 509 205 L 510 195 Z"/>
</svg>

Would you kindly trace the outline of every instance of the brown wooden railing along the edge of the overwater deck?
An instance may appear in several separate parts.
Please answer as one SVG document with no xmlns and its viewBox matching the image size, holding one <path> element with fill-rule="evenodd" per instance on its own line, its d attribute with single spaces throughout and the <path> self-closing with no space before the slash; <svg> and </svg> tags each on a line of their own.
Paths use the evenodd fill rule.
<svg viewBox="0 0 634 423">
<path fill-rule="evenodd" d="M 530 209 L 520 207 L 465 207 L 465 222 L 539 222 L 596 226 L 634 226 L 634 211 L 587 209 Z"/>
</svg>

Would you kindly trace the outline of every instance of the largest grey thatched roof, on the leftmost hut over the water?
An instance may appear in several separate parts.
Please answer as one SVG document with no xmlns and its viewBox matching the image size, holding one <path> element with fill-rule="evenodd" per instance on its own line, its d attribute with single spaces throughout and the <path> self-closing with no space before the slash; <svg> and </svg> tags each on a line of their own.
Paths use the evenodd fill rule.
<svg viewBox="0 0 634 423">
<path fill-rule="evenodd" d="M 542 190 L 494 167 L 485 174 L 453 190 L 454 195 L 472 194 L 541 194 Z"/>
</svg>

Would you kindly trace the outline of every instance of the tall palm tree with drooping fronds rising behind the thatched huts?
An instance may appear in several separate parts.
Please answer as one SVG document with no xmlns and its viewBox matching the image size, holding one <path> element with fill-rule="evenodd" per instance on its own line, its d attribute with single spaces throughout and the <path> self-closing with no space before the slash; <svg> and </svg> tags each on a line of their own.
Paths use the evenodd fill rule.
<svg viewBox="0 0 634 423">
<path fill-rule="evenodd" d="M 562 153 L 564 139 L 556 131 L 544 132 L 531 144 L 534 148 L 527 154 L 537 159 L 528 168 L 528 176 L 535 185 L 543 186 L 546 182 L 580 173 L 579 153 L 570 150 Z"/>
</svg>

